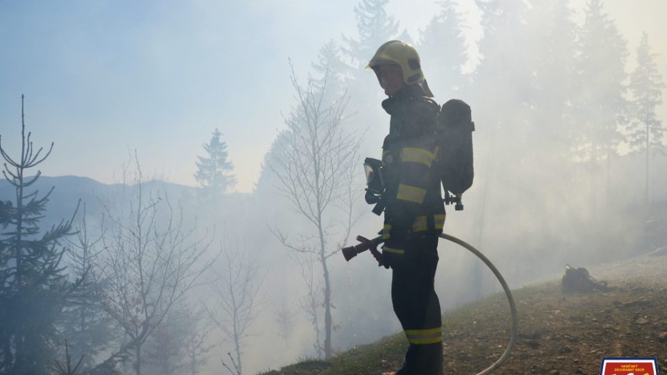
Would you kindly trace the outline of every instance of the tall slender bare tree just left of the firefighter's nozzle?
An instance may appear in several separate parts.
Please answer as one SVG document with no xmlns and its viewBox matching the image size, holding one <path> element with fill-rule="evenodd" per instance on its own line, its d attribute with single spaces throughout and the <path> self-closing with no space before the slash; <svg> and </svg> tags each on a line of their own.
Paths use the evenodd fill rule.
<svg viewBox="0 0 667 375">
<path fill-rule="evenodd" d="M 279 179 L 278 189 L 291 208 L 312 224 L 310 233 L 299 233 L 297 240 L 288 238 L 280 228 L 272 232 L 283 246 L 302 256 L 314 256 L 322 267 L 322 306 L 324 306 L 324 356 L 332 355 L 331 275 L 327 260 L 347 242 L 350 229 L 359 220 L 354 212 L 357 150 L 361 136 L 343 128 L 347 94 L 331 101 L 327 94 L 327 77 L 299 84 L 292 69 L 296 106 L 288 117 L 288 131 L 283 144 L 270 155 L 269 167 Z M 361 169 L 359 169 L 361 171 Z M 361 189 L 359 189 L 361 190 Z M 337 221 L 331 208 L 342 209 L 345 219 Z M 338 241 L 332 241 L 338 238 Z M 306 274 L 307 276 L 307 274 Z M 306 283 L 312 283 L 306 279 Z M 308 303 L 306 303 L 308 306 Z M 318 319 L 313 319 L 317 322 Z M 319 333 L 319 328 L 315 328 Z M 319 347 L 320 342 L 315 345 Z"/>
</svg>

